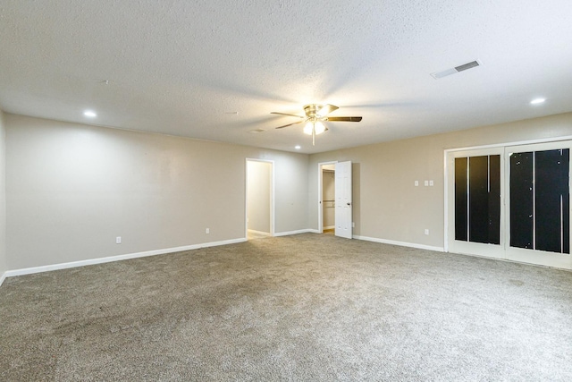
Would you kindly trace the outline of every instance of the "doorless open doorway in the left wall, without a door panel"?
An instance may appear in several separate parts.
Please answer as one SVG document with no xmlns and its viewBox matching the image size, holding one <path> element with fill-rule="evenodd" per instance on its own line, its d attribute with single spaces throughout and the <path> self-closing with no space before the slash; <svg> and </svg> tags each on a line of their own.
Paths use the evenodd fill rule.
<svg viewBox="0 0 572 382">
<path fill-rule="evenodd" d="M 274 233 L 273 162 L 247 159 L 246 238 Z"/>
</svg>

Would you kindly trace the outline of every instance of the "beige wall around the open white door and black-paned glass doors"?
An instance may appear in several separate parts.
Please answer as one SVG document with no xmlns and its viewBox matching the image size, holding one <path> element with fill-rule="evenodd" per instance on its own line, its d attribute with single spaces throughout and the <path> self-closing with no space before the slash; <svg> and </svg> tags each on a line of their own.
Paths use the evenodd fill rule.
<svg viewBox="0 0 572 382">
<path fill-rule="evenodd" d="M 318 163 L 350 160 L 354 235 L 442 248 L 445 149 L 570 135 L 572 114 L 564 114 L 312 155 L 308 223 L 317 229 Z M 425 180 L 433 180 L 433 187 L 425 187 Z"/>
</svg>

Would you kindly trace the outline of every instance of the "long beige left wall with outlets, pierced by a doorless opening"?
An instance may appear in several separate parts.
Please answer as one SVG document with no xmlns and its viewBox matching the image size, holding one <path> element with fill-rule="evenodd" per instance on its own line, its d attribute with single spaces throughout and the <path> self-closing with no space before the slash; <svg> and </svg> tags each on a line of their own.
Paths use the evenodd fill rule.
<svg viewBox="0 0 572 382">
<path fill-rule="evenodd" d="M 244 238 L 247 157 L 274 161 L 275 232 L 307 228 L 307 155 L 4 117 L 8 269 Z"/>
</svg>

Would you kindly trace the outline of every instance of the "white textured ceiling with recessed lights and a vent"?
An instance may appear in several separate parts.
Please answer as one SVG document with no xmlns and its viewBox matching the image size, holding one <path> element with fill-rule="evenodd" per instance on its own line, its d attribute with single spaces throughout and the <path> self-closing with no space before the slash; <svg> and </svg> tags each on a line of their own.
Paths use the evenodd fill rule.
<svg viewBox="0 0 572 382">
<path fill-rule="evenodd" d="M 363 121 L 274 129 L 307 103 Z M 559 114 L 572 1 L 0 0 L 0 108 L 304 153 Z"/>
</svg>

